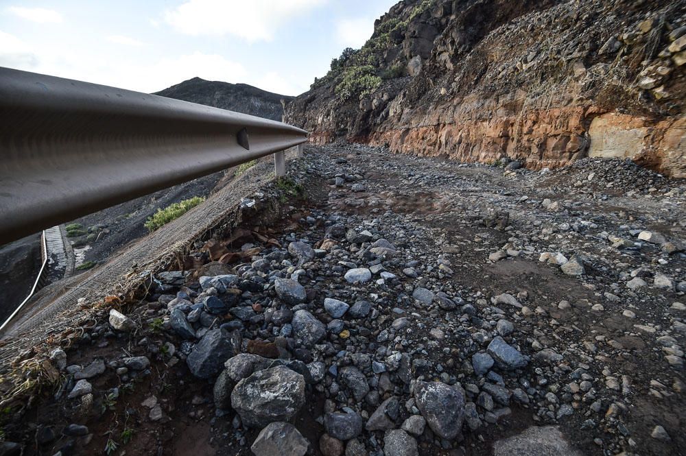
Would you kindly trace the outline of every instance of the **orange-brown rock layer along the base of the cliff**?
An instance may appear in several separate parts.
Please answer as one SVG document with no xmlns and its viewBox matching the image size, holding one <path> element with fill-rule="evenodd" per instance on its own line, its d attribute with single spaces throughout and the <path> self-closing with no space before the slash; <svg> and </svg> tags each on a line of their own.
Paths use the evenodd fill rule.
<svg viewBox="0 0 686 456">
<path fill-rule="evenodd" d="M 333 132 L 313 132 L 323 144 Z M 651 121 L 598 108 L 530 110 L 491 119 L 455 119 L 435 125 L 384 129 L 351 139 L 387 145 L 392 152 L 445 156 L 465 163 L 508 157 L 530 169 L 560 167 L 586 156 L 631 158 L 668 176 L 686 178 L 686 119 Z"/>
</svg>

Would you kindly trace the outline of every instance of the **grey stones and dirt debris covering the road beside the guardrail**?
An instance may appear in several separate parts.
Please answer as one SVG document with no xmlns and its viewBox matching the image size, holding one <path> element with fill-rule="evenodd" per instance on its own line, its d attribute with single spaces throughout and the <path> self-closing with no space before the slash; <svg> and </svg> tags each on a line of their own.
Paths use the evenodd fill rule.
<svg viewBox="0 0 686 456">
<path fill-rule="evenodd" d="M 603 199 L 587 173 L 623 162 L 308 152 L 141 300 L 98 304 L 0 448 L 680 454 L 683 181 Z"/>
</svg>

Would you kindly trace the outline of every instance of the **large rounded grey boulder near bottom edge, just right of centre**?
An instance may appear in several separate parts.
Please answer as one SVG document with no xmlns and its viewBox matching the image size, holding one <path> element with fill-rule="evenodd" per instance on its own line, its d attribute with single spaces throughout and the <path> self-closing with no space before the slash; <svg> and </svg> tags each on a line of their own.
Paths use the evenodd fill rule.
<svg viewBox="0 0 686 456">
<path fill-rule="evenodd" d="M 438 437 L 453 440 L 462 431 L 464 395 L 441 382 L 417 382 L 414 401 L 427 424 Z"/>
</svg>

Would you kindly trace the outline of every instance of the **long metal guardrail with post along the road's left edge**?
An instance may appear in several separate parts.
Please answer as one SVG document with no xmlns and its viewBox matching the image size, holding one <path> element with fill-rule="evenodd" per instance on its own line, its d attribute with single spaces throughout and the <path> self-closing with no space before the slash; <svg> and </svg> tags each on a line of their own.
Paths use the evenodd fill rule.
<svg viewBox="0 0 686 456">
<path fill-rule="evenodd" d="M 305 141 L 281 122 L 0 68 L 0 245 Z"/>
</svg>

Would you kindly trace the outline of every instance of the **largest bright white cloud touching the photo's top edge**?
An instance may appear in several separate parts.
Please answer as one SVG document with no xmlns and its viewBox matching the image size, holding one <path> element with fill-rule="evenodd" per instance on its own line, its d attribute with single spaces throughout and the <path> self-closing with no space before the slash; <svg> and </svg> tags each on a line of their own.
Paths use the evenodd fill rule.
<svg viewBox="0 0 686 456">
<path fill-rule="evenodd" d="M 234 35 L 248 41 L 274 38 L 294 16 L 327 0 L 188 0 L 165 12 L 165 21 L 187 35 Z M 297 27 L 297 23 L 294 23 Z"/>
</svg>

